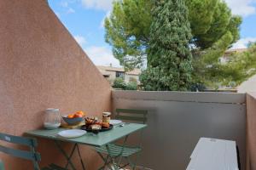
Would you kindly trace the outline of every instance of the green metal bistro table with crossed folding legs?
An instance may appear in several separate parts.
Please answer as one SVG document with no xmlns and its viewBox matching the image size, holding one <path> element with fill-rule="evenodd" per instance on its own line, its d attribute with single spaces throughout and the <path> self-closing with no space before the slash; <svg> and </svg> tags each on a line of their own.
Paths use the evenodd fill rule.
<svg viewBox="0 0 256 170">
<path fill-rule="evenodd" d="M 108 144 L 111 144 L 113 141 L 116 141 L 122 138 L 125 138 L 125 141 L 126 141 L 126 139 L 131 133 L 135 133 L 139 130 L 142 130 L 144 127 L 147 127 L 147 125 L 137 124 L 137 123 L 125 123 L 124 126 L 118 125 L 113 127 L 113 129 L 109 131 L 101 132 L 96 135 L 93 135 L 92 133 L 85 133 L 84 136 L 81 136 L 79 138 L 73 138 L 73 139 L 62 138 L 61 136 L 58 135 L 58 133 L 60 133 L 63 130 L 67 130 L 67 128 L 57 128 L 53 130 L 47 130 L 47 129 L 32 130 L 32 131 L 26 132 L 26 134 L 33 137 L 54 140 L 57 148 L 61 151 L 63 156 L 65 156 L 65 158 L 67 159 L 66 168 L 68 167 L 68 165 L 70 165 L 70 167 L 73 170 L 76 170 L 76 168 L 74 167 L 73 162 L 71 161 L 71 158 L 73 156 L 74 150 L 77 149 L 79 152 L 81 165 L 84 170 L 85 169 L 84 161 L 82 160 L 80 155 L 79 144 L 85 144 L 85 145 L 96 146 L 96 147 L 101 147 L 103 145 L 106 145 L 106 147 L 108 148 Z M 61 144 L 60 144 L 61 141 L 73 144 L 73 150 L 71 151 L 69 156 L 67 152 L 61 148 Z M 125 147 L 125 141 L 123 144 L 124 147 Z M 111 155 L 111 150 L 109 149 L 108 149 L 108 154 Z M 116 166 L 116 162 L 114 161 L 114 159 L 111 159 L 111 161 L 112 161 L 113 167 L 110 167 L 110 168 L 114 170 L 118 170 L 119 168 Z"/>
</svg>

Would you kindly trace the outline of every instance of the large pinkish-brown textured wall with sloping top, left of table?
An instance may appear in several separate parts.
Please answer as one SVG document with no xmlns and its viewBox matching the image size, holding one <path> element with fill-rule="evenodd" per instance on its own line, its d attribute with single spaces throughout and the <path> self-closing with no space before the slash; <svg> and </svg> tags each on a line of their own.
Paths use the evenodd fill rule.
<svg viewBox="0 0 256 170">
<path fill-rule="evenodd" d="M 111 110 L 111 87 L 46 1 L 1 0 L 0 11 L 0 132 L 22 135 L 42 127 L 49 107 L 60 108 L 62 115 Z M 41 165 L 64 164 L 53 142 L 38 143 Z M 77 156 L 73 161 L 79 166 Z M 93 150 L 83 147 L 83 157 L 87 169 L 98 167 Z M 7 169 L 32 169 L 28 161 L 3 154 L 0 159 Z"/>
</svg>

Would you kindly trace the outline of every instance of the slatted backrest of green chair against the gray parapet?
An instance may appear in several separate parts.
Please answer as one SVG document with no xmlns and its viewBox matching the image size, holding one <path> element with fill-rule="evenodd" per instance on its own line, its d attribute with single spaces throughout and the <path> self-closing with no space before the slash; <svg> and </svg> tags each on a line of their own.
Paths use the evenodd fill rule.
<svg viewBox="0 0 256 170">
<path fill-rule="evenodd" d="M 148 111 L 146 110 L 116 109 L 115 118 L 145 124 L 147 122 L 147 115 Z"/>
</svg>

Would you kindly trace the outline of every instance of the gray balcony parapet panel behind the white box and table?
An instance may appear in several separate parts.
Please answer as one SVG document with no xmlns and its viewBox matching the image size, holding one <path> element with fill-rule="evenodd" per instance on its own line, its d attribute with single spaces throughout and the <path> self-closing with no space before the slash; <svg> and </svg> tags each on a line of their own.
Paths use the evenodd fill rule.
<svg viewBox="0 0 256 170">
<path fill-rule="evenodd" d="M 245 169 L 246 105 L 233 104 L 235 101 L 243 102 L 243 94 L 220 94 L 222 102 L 218 102 L 217 94 L 191 94 L 200 99 L 201 95 L 207 96 L 207 101 L 213 98 L 215 103 L 192 102 L 199 99 L 193 99 L 190 93 L 185 93 L 189 102 L 156 100 L 162 94 L 113 92 L 113 111 L 116 108 L 148 110 L 148 127 L 143 134 L 140 165 L 154 170 L 183 170 L 188 166 L 189 156 L 198 140 L 207 137 L 235 140 L 240 150 L 241 169 Z M 183 93 L 168 94 L 171 96 L 164 94 L 166 99 L 174 99 L 174 96 L 184 98 Z M 148 95 L 154 95 L 156 99 L 152 96 L 147 100 Z M 224 99 L 226 103 L 223 103 Z"/>
</svg>

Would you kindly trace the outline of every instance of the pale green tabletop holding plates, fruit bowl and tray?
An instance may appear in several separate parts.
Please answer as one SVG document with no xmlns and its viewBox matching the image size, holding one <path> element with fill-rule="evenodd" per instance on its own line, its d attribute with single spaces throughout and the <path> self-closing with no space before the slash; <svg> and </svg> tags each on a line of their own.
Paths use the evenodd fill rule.
<svg viewBox="0 0 256 170">
<path fill-rule="evenodd" d="M 59 132 L 63 130 L 67 130 L 67 128 L 57 128 L 54 130 L 46 130 L 46 129 L 39 129 L 39 130 L 32 130 L 26 132 L 27 135 L 40 137 L 44 139 L 53 139 L 53 140 L 61 140 L 70 143 L 77 143 L 77 144 L 87 144 L 92 146 L 102 146 L 105 144 L 109 144 L 117 139 L 121 139 L 130 133 L 134 133 L 147 125 L 144 124 L 137 124 L 137 123 L 129 123 L 125 124 L 124 127 L 116 126 L 113 129 L 101 132 L 96 135 L 92 135 L 92 133 L 85 133 L 84 136 L 79 138 L 67 139 L 62 138 L 58 135 Z"/>
</svg>

